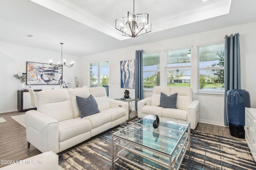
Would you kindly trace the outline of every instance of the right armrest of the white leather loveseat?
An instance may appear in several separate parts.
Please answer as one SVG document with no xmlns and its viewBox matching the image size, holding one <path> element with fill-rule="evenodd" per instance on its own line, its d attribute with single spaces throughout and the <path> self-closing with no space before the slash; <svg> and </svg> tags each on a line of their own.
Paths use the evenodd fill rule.
<svg viewBox="0 0 256 170">
<path fill-rule="evenodd" d="M 187 121 L 190 122 L 190 128 L 195 129 L 200 117 L 200 102 L 192 101 L 187 107 Z"/>
</svg>

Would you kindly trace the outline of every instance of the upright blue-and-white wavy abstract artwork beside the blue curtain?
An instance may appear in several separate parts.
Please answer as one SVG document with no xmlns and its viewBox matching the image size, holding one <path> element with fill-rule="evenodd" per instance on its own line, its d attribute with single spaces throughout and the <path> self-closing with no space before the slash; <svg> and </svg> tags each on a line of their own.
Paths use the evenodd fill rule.
<svg viewBox="0 0 256 170">
<path fill-rule="evenodd" d="M 120 61 L 121 88 L 135 88 L 135 60 Z"/>
</svg>

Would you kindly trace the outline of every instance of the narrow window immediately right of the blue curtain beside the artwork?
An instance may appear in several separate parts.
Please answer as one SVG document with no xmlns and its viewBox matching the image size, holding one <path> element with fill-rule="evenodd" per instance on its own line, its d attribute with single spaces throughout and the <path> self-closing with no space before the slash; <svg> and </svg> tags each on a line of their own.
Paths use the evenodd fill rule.
<svg viewBox="0 0 256 170">
<path fill-rule="evenodd" d="M 143 54 L 144 90 L 160 86 L 160 53 Z"/>
</svg>

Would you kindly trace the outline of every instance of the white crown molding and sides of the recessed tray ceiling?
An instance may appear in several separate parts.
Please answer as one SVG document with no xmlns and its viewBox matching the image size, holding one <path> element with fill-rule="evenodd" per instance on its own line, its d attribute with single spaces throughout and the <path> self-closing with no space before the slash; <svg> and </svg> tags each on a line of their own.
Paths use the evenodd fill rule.
<svg viewBox="0 0 256 170">
<path fill-rule="evenodd" d="M 72 4 L 69 0 L 30 0 L 54 12 L 62 14 L 72 20 L 78 21 L 96 29 L 106 35 L 118 40 L 129 39 L 122 36 L 120 31 L 115 29 L 114 25 L 94 16 L 82 8 Z M 152 31 L 150 33 L 194 23 L 197 21 L 222 16 L 229 13 L 231 0 L 218 0 L 198 8 L 180 12 L 175 15 L 166 16 L 158 20 L 151 21 Z"/>
</svg>

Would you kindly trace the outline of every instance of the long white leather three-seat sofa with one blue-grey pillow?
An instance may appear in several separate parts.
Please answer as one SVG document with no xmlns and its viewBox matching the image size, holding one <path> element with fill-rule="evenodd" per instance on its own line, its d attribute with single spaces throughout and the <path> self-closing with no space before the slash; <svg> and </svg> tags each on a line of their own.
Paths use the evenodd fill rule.
<svg viewBox="0 0 256 170">
<path fill-rule="evenodd" d="M 95 98 L 100 113 L 80 117 L 76 96 Z M 26 137 L 41 152 L 66 150 L 128 120 L 127 102 L 108 99 L 103 87 L 43 90 L 26 112 Z"/>
</svg>

